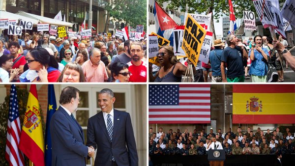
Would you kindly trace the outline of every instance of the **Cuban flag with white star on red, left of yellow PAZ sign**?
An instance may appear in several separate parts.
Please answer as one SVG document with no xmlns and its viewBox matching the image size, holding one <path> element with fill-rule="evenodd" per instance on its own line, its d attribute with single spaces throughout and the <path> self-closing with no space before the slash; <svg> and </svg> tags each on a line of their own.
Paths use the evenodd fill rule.
<svg viewBox="0 0 295 166">
<path fill-rule="evenodd" d="M 173 29 L 178 26 L 174 20 L 163 10 L 163 8 L 155 1 L 154 17 L 157 34 L 170 40 L 170 45 L 173 46 Z"/>
</svg>

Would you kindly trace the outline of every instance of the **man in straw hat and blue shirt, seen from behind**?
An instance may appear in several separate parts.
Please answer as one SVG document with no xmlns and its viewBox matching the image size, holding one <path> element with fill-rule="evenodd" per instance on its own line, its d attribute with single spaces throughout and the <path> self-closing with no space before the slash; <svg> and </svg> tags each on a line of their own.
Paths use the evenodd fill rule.
<svg viewBox="0 0 295 166">
<path fill-rule="evenodd" d="M 223 47 L 224 43 L 220 40 L 214 40 L 214 50 L 210 51 L 209 54 L 209 60 L 211 63 L 211 69 L 212 69 L 212 82 L 222 82 L 222 77 L 221 77 L 221 70 L 220 70 L 220 65 L 221 65 L 221 55 L 223 52 Z"/>
</svg>

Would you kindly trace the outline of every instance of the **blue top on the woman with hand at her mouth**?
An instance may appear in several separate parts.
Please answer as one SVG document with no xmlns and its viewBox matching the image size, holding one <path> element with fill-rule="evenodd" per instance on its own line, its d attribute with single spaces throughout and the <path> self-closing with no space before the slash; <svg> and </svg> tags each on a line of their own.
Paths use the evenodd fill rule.
<svg viewBox="0 0 295 166">
<path fill-rule="evenodd" d="M 262 50 L 266 53 L 267 56 L 269 56 L 266 48 L 262 48 Z M 249 51 L 249 57 L 251 51 L 252 50 Z M 252 60 L 251 62 L 249 74 L 255 76 L 265 76 L 267 71 L 267 65 L 264 62 L 265 60 L 263 61 L 263 55 L 259 53 L 256 49 L 254 49 L 254 57 L 254 60 Z"/>
</svg>

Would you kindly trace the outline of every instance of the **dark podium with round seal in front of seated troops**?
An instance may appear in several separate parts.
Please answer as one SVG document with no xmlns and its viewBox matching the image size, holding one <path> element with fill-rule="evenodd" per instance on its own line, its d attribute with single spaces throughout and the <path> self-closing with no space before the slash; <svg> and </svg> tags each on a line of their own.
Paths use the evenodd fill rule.
<svg viewBox="0 0 295 166">
<path fill-rule="evenodd" d="M 223 166 L 225 160 L 225 151 L 223 149 L 208 150 L 208 161 L 210 166 Z"/>
</svg>

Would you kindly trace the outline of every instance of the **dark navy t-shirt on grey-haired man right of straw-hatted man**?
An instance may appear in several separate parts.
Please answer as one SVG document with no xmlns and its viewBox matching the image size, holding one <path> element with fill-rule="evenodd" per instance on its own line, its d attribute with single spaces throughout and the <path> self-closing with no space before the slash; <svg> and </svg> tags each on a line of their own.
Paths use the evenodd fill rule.
<svg viewBox="0 0 295 166">
<path fill-rule="evenodd" d="M 221 61 L 227 63 L 227 77 L 234 79 L 244 75 L 244 66 L 242 61 L 243 52 L 240 47 L 236 46 L 234 49 L 227 47 L 223 50 Z"/>
</svg>

